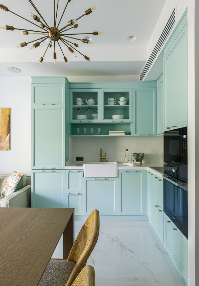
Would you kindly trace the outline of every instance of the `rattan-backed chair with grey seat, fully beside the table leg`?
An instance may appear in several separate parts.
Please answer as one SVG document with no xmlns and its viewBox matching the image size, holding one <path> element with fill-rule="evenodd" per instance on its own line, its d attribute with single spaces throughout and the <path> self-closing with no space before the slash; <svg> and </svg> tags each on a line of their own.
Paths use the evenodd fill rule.
<svg viewBox="0 0 199 286">
<path fill-rule="evenodd" d="M 95 247 L 100 230 L 99 211 L 94 209 L 82 226 L 67 259 L 50 259 L 38 286 L 71 286 Z"/>
</svg>

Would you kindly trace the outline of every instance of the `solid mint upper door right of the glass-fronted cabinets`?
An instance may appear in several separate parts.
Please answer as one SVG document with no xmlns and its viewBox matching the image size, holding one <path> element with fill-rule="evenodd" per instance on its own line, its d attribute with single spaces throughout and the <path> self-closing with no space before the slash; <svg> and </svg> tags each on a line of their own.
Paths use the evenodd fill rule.
<svg viewBox="0 0 199 286">
<path fill-rule="evenodd" d="M 133 89 L 133 136 L 156 136 L 156 88 Z"/>
</svg>

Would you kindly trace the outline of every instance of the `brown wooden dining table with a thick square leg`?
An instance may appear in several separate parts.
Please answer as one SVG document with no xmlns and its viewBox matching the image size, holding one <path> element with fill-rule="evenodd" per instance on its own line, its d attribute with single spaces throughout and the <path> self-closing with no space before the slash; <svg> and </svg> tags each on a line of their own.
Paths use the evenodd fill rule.
<svg viewBox="0 0 199 286">
<path fill-rule="evenodd" d="M 74 242 L 74 208 L 0 208 L 0 285 L 37 286 L 63 233 Z"/>
</svg>

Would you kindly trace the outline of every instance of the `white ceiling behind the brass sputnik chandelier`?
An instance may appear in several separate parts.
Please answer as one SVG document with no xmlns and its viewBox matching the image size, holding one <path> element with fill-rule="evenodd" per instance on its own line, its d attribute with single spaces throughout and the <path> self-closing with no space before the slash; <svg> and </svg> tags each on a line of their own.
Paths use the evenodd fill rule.
<svg viewBox="0 0 199 286">
<path fill-rule="evenodd" d="M 67 48 L 61 44 L 62 50 L 69 61 L 63 61 L 63 55 L 56 44 L 57 64 L 53 64 L 54 48 L 48 49 L 44 61 L 38 64 L 43 56 L 48 42 L 43 42 L 40 47 L 30 51 L 28 47 L 16 49 L 22 42 L 30 42 L 42 35 L 21 35 L 19 30 L 6 31 L 0 29 L 0 76 L 40 76 L 40 75 L 139 75 L 147 60 L 146 47 L 158 21 L 166 0 L 71 0 L 60 22 L 59 28 L 65 26 L 69 20 L 78 18 L 84 12 L 97 5 L 97 9 L 90 15 L 82 17 L 77 29 L 69 33 L 103 32 L 100 36 L 92 36 L 93 45 L 80 45 L 79 51 L 93 61 L 90 64 L 82 55 L 73 57 Z M 33 0 L 33 3 L 42 14 L 49 26 L 53 26 L 54 2 L 52 0 Z M 57 3 L 57 1 L 56 1 Z M 26 1 L 3 0 L 1 4 L 9 10 L 21 15 L 27 20 L 38 24 L 30 16 L 30 12 L 37 14 Z M 57 23 L 66 5 L 66 0 L 59 0 Z M 0 10 L 1 25 L 10 25 L 24 30 L 40 30 L 35 25 L 17 17 L 16 15 Z M 39 25 L 39 24 L 38 24 Z M 42 31 L 42 29 L 41 29 Z M 86 35 L 86 34 L 85 34 Z M 136 36 L 135 41 L 127 40 L 128 36 Z M 74 36 L 82 39 L 84 35 Z M 33 42 L 34 43 L 34 42 Z M 11 73 L 8 66 L 22 70 L 21 73 Z"/>
</svg>

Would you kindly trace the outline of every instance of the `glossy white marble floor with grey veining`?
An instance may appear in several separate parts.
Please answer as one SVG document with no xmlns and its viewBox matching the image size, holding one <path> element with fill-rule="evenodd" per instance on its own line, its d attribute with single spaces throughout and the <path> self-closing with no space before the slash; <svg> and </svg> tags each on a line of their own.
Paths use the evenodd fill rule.
<svg viewBox="0 0 199 286">
<path fill-rule="evenodd" d="M 75 221 L 75 237 L 84 221 Z M 52 258 L 62 258 L 60 239 Z M 96 286 L 185 286 L 149 221 L 100 221 L 87 265 Z"/>
</svg>

